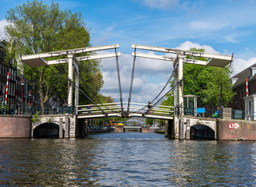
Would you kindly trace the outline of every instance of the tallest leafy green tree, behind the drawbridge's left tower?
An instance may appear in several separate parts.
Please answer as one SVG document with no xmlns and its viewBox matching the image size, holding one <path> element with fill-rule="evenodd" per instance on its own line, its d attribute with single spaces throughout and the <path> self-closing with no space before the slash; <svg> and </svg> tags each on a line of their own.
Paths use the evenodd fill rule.
<svg viewBox="0 0 256 187">
<path fill-rule="evenodd" d="M 55 2 L 44 5 L 42 1 L 34 0 L 16 5 L 7 12 L 6 19 L 9 25 L 5 26 L 5 34 L 11 41 L 12 52 L 16 55 L 91 46 L 90 33 L 81 14 L 69 10 L 62 11 Z M 97 95 L 103 85 L 99 65 L 98 61 L 80 63 L 80 88 L 88 95 Z M 34 83 L 34 90 L 39 91 L 41 106 L 44 106 L 49 97 L 57 93 L 59 99 L 65 101 L 67 64 L 38 68 L 22 65 L 22 69 L 25 79 Z M 83 97 L 80 98 L 83 104 L 88 102 Z"/>
</svg>

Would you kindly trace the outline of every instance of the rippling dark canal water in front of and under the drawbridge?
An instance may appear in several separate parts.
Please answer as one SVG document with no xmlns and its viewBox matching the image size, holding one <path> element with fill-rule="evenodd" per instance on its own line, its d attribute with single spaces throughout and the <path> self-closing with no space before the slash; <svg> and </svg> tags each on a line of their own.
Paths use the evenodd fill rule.
<svg viewBox="0 0 256 187">
<path fill-rule="evenodd" d="M 0 139 L 0 186 L 254 186 L 256 142 L 154 133 Z"/>
</svg>

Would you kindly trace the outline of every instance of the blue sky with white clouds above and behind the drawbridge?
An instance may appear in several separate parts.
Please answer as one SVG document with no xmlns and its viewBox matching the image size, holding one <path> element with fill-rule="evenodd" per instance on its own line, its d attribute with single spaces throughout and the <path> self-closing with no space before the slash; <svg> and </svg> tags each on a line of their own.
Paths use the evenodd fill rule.
<svg viewBox="0 0 256 187">
<path fill-rule="evenodd" d="M 27 1 L 0 0 L 0 38 L 5 12 Z M 43 1 L 50 4 L 52 1 Z M 233 74 L 256 63 L 256 1 L 254 0 L 97 0 L 55 1 L 61 9 L 81 12 L 91 30 L 93 46 L 120 44 L 118 51 L 124 100 L 128 97 L 133 62 L 131 44 L 166 48 L 205 48 L 235 55 Z M 137 58 L 134 102 L 151 101 L 172 72 L 170 62 Z M 118 101 L 116 61 L 101 61 L 102 94 Z"/>
</svg>

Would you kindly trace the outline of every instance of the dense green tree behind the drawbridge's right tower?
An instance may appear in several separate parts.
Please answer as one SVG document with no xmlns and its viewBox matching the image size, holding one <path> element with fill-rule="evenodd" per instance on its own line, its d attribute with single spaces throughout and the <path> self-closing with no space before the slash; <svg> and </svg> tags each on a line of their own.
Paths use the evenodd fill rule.
<svg viewBox="0 0 256 187">
<path fill-rule="evenodd" d="M 204 49 L 190 48 L 190 51 L 201 51 Z M 206 58 L 194 58 L 201 61 L 207 61 Z M 213 105 L 217 107 L 220 103 L 220 88 L 222 84 L 222 105 L 227 106 L 233 98 L 232 84 L 230 83 L 230 67 L 218 68 L 205 65 L 194 65 L 185 63 L 183 65 L 183 94 L 194 94 L 202 105 Z M 173 86 L 173 81 L 170 83 Z M 173 105 L 173 92 L 162 104 Z"/>
</svg>

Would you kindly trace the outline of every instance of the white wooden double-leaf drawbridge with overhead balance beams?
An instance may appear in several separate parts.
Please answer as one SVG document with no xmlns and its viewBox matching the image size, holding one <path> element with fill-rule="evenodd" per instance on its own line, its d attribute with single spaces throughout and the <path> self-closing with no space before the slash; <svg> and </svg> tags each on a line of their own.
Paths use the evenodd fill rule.
<svg viewBox="0 0 256 187">
<path fill-rule="evenodd" d="M 140 44 L 132 44 L 134 49 L 132 73 L 130 79 L 130 91 L 128 101 L 123 101 L 121 79 L 119 75 L 119 56 L 120 52 L 117 52 L 119 44 L 90 47 L 90 48 L 77 48 L 66 51 L 52 51 L 48 53 L 35 54 L 35 55 L 21 55 L 20 61 L 30 65 L 31 67 L 39 67 L 44 65 L 58 65 L 62 63 L 68 63 L 68 108 L 74 106 L 73 115 L 78 120 L 86 118 L 107 118 L 107 117 L 143 117 L 143 118 L 158 118 L 173 120 L 176 118 L 175 131 L 180 139 L 184 139 L 186 134 L 186 128 L 184 128 L 184 111 L 183 111 L 183 63 L 190 63 L 196 65 L 208 65 L 224 68 L 229 63 L 233 62 L 233 55 L 216 55 L 209 54 L 200 51 L 186 51 L 174 48 L 160 48 L 153 46 L 146 46 Z M 87 55 L 81 56 L 84 53 L 96 54 L 97 51 L 112 50 L 114 53 L 108 53 L 105 55 Z M 141 51 L 156 51 L 158 53 L 164 53 L 164 55 L 151 55 L 143 53 Z M 80 55 L 79 55 L 80 54 Z M 79 55 L 79 56 L 77 56 Z M 45 58 L 59 58 L 57 60 L 46 60 Z M 189 58 L 187 58 L 189 57 Z M 197 60 L 197 58 L 205 58 L 206 61 Z M 100 101 L 93 99 L 84 93 L 84 90 L 80 89 L 80 62 L 86 62 L 91 59 L 101 58 L 116 58 L 116 71 L 117 79 L 119 83 L 119 102 L 102 104 Z M 148 104 L 133 103 L 133 77 L 135 73 L 136 58 L 153 58 L 163 61 L 172 62 L 173 71 L 170 70 L 170 76 L 165 86 L 159 91 L 156 97 L 152 97 L 152 101 Z M 73 81 L 74 80 L 74 81 Z M 170 81 L 173 80 L 173 86 L 169 88 Z M 75 93 L 73 94 L 73 89 Z M 174 106 L 163 106 L 162 101 L 168 96 L 169 93 L 174 94 Z M 87 98 L 88 103 L 86 105 L 79 104 L 79 94 Z M 74 98 L 74 99 L 73 99 Z M 74 103 L 74 104 L 73 104 Z M 177 110 L 175 110 L 175 108 Z M 76 120 L 74 120 L 76 121 Z M 76 122 L 74 122 L 76 123 Z M 76 132 L 76 125 L 74 125 L 73 133 Z M 69 128 L 70 129 L 70 128 Z"/>
</svg>

